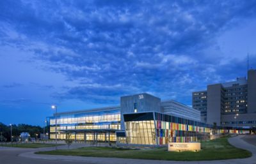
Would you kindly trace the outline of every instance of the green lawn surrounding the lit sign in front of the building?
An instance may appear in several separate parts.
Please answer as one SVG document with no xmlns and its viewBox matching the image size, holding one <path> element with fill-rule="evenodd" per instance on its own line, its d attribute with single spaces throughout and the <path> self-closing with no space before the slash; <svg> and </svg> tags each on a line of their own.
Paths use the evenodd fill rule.
<svg viewBox="0 0 256 164">
<path fill-rule="evenodd" d="M 202 160 L 225 160 L 233 158 L 248 158 L 252 153 L 228 143 L 227 138 L 218 138 L 209 142 L 203 142 L 199 152 L 168 152 L 167 147 L 132 150 L 111 147 L 83 147 L 70 150 L 56 150 L 37 152 L 36 154 L 53 154 L 67 156 L 93 156 L 111 158 L 134 158 L 147 160 L 177 160 L 177 161 L 202 161 Z"/>
</svg>

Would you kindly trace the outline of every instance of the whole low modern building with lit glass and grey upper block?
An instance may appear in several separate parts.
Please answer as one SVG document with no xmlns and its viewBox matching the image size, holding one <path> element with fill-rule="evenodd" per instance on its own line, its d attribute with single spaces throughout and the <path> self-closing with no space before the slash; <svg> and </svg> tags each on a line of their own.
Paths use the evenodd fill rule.
<svg viewBox="0 0 256 164">
<path fill-rule="evenodd" d="M 238 133 L 234 128 L 202 123 L 198 110 L 147 93 L 121 97 L 120 107 L 57 113 L 49 117 L 49 126 L 51 139 L 70 134 L 83 142 L 154 146 L 206 140 L 213 129 Z"/>
</svg>

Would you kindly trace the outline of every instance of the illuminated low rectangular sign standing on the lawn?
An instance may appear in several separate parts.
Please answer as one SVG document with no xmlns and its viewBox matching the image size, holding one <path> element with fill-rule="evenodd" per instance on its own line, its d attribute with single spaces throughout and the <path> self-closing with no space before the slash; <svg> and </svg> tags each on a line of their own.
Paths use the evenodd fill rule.
<svg viewBox="0 0 256 164">
<path fill-rule="evenodd" d="M 200 151 L 201 143 L 199 142 L 169 142 L 168 151 Z"/>
</svg>

